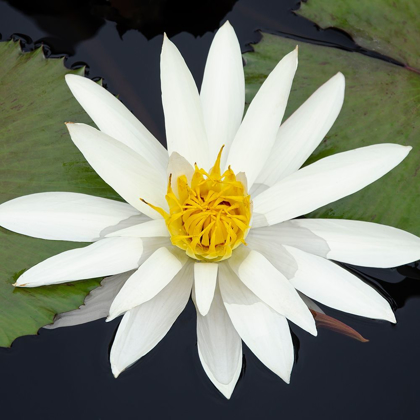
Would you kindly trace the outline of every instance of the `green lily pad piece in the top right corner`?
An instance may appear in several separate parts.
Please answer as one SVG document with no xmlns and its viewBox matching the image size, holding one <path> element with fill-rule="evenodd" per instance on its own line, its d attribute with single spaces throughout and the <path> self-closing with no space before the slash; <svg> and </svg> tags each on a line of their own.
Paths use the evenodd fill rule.
<svg viewBox="0 0 420 420">
<path fill-rule="evenodd" d="M 418 0 L 308 0 L 296 13 L 420 71 Z"/>
</svg>

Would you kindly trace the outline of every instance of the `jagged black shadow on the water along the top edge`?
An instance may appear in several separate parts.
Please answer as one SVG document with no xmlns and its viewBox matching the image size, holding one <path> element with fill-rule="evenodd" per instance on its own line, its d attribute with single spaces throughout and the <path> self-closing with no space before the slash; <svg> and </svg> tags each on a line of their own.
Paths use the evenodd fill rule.
<svg viewBox="0 0 420 420">
<path fill-rule="evenodd" d="M 105 24 L 115 22 L 120 36 L 130 29 L 147 39 L 180 32 L 202 36 L 219 27 L 237 0 L 5 0 L 30 16 L 49 35 L 38 40 L 54 53 L 73 55 L 80 42 L 94 37 Z"/>
</svg>

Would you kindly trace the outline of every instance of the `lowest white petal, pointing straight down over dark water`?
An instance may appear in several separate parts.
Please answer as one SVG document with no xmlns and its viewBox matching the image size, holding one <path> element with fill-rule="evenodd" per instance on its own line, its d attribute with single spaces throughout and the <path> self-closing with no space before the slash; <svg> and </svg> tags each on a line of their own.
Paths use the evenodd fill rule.
<svg viewBox="0 0 420 420">
<path fill-rule="evenodd" d="M 218 287 L 208 314 L 203 316 L 197 311 L 197 347 L 207 376 L 229 399 L 242 369 L 242 341 L 226 312 Z"/>
</svg>

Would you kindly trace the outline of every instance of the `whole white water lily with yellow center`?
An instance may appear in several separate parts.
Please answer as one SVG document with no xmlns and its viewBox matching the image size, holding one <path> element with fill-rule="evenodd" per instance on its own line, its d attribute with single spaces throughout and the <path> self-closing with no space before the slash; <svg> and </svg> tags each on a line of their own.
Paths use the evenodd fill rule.
<svg viewBox="0 0 420 420">
<path fill-rule="evenodd" d="M 105 89 L 66 77 L 99 128 L 68 123 L 70 136 L 127 203 L 33 194 L 2 204 L 0 225 L 37 238 L 93 242 L 41 262 L 15 285 L 110 276 L 85 307 L 56 323 L 124 314 L 110 355 L 116 377 L 159 343 L 191 294 L 201 363 L 226 398 L 241 372 L 242 340 L 289 382 L 288 320 L 317 334 L 308 297 L 395 322 L 377 291 L 331 260 L 394 267 L 420 259 L 420 239 L 374 223 L 295 218 L 376 181 L 411 148 L 377 144 L 299 169 L 336 120 L 345 82 L 341 73 L 332 77 L 280 126 L 297 55 L 296 49 L 279 62 L 243 118 L 242 56 L 230 24 L 214 38 L 200 94 L 165 37 L 168 150 Z"/>
</svg>

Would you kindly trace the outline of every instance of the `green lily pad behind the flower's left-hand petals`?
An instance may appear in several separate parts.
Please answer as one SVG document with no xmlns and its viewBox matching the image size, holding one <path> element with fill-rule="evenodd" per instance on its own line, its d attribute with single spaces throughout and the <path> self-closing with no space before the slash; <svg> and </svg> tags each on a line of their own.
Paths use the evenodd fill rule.
<svg viewBox="0 0 420 420">
<path fill-rule="evenodd" d="M 13 41 L 0 43 L 0 203 L 44 191 L 81 192 L 120 199 L 74 146 L 65 121 L 91 124 L 64 81 L 63 59 L 42 49 L 23 53 Z M 84 244 L 29 238 L 0 227 L 0 346 L 35 334 L 56 313 L 79 307 L 99 280 L 15 289 L 25 270 Z"/>
</svg>

